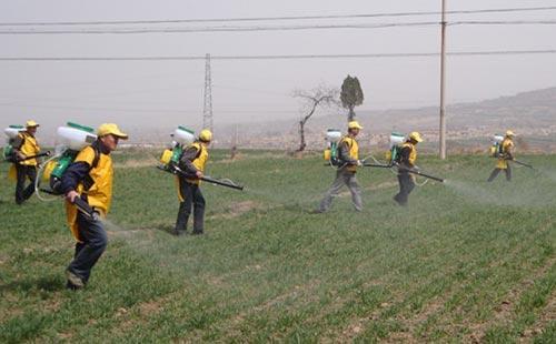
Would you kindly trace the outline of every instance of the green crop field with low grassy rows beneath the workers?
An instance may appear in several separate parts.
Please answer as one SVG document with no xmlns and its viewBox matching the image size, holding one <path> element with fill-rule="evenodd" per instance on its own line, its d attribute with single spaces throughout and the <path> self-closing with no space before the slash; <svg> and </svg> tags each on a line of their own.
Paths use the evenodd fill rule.
<svg viewBox="0 0 556 344">
<path fill-rule="evenodd" d="M 173 178 L 155 152 L 115 155 L 110 244 L 86 290 L 64 289 L 73 240 L 60 201 L 13 202 L 0 173 L 0 342 L 556 341 L 556 156 L 485 182 L 479 155 L 419 165 L 448 178 L 391 201 L 396 176 L 364 170 L 310 214 L 334 179 L 320 156 L 215 152 L 206 234 L 169 234 Z M 421 181 L 421 180 L 419 180 Z"/>
</svg>

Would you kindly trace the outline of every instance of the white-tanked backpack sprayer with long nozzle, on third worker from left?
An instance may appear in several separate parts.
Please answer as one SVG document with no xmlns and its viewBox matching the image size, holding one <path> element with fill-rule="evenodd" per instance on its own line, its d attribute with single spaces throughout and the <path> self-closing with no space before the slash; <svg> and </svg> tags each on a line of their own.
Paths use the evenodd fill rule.
<svg viewBox="0 0 556 344">
<path fill-rule="evenodd" d="M 178 127 L 173 133 L 172 133 L 173 142 L 171 149 L 166 149 L 162 154 L 160 155 L 160 164 L 157 165 L 157 169 L 162 170 L 165 172 L 169 172 L 172 174 L 180 174 L 189 179 L 199 179 L 201 181 L 215 184 L 215 185 L 220 185 L 220 186 L 226 186 L 226 188 L 231 188 L 236 190 L 244 190 L 244 186 L 238 185 L 234 183 L 230 180 L 218 180 L 214 179 L 208 175 L 203 175 L 201 178 L 198 178 L 197 175 L 191 175 L 186 173 L 186 171 L 181 170 L 179 168 L 179 159 L 181 158 L 181 154 L 183 153 L 183 149 L 187 148 L 189 144 L 193 143 L 195 141 L 195 132 L 192 130 L 189 130 L 185 127 Z"/>
</svg>

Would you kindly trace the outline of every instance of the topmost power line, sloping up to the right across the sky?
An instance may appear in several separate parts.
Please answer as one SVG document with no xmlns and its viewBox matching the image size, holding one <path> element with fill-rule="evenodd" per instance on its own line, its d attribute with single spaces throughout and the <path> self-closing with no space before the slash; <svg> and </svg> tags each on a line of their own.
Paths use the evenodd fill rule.
<svg viewBox="0 0 556 344">
<path fill-rule="evenodd" d="M 508 13 L 528 11 L 556 10 L 556 7 L 498 8 L 481 10 L 446 11 L 446 14 L 476 14 L 476 13 Z M 117 24 L 158 24 L 158 23 L 202 23 L 202 22 L 240 22 L 240 21 L 286 21 L 315 19 L 354 19 L 354 18 L 385 18 L 437 16 L 439 11 L 418 12 L 387 12 L 361 14 L 329 14 L 329 16 L 294 16 L 294 17 L 251 17 L 251 18 L 210 18 L 210 19 L 169 19 L 169 20 L 115 20 L 115 21 L 56 21 L 56 22 L 3 22 L 0 27 L 47 27 L 47 26 L 117 26 Z"/>
</svg>

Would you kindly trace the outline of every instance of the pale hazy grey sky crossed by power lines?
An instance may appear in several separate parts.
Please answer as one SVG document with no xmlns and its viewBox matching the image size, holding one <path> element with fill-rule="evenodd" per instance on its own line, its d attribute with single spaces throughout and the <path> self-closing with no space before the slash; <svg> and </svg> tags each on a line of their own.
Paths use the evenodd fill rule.
<svg viewBox="0 0 556 344">
<path fill-rule="evenodd" d="M 440 0 L 203 0 L 0 2 L 0 23 L 215 19 L 439 11 Z M 549 0 L 447 0 L 447 10 L 556 6 Z M 458 20 L 556 20 L 556 10 L 451 14 Z M 439 16 L 112 26 L 199 28 L 439 21 Z M 33 27 L 68 29 L 68 27 Z M 69 29 L 98 29 L 70 27 Z M 106 26 L 100 28 L 107 28 Z M 2 26 L 1 30 L 29 29 Z M 249 32 L 137 34 L 0 34 L 7 57 L 170 57 L 438 52 L 439 26 Z M 556 49 L 556 26 L 449 26 L 447 51 Z M 447 103 L 470 102 L 555 87 L 555 54 L 448 57 Z M 214 121 L 297 119 L 296 89 L 340 87 L 360 80 L 358 111 L 437 105 L 439 58 L 212 60 Z M 117 122 L 132 130 L 177 124 L 200 129 L 205 61 L 0 61 L 0 127 L 34 119 L 42 130 L 71 120 L 96 127 Z"/>
</svg>

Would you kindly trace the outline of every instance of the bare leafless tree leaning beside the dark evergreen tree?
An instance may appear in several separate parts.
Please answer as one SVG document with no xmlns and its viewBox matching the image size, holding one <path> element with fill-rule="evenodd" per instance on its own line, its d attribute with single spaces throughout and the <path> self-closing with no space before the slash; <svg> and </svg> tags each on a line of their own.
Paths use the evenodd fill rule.
<svg viewBox="0 0 556 344">
<path fill-rule="evenodd" d="M 339 90 L 326 85 L 319 85 L 312 90 L 296 90 L 292 93 L 294 98 L 301 100 L 302 117 L 299 120 L 299 149 L 302 152 L 307 146 L 305 142 L 305 124 L 315 114 L 318 108 L 337 108 L 339 107 Z"/>
</svg>

